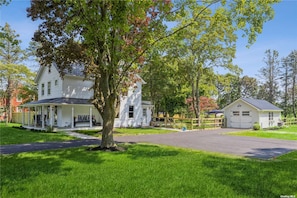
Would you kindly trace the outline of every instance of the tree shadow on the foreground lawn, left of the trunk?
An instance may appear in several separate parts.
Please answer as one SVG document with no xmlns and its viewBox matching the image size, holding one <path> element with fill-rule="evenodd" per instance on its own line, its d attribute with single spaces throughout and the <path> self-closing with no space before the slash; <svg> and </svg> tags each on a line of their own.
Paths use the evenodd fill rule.
<svg viewBox="0 0 297 198">
<path fill-rule="evenodd" d="M 98 154 L 86 152 L 85 147 L 1 155 L 0 157 L 0 186 L 6 186 L 12 191 L 22 190 L 19 189 L 20 185 L 16 185 L 18 189 L 11 186 L 13 183 L 33 181 L 39 175 L 67 175 L 75 168 L 73 162 L 85 164 L 103 162 Z M 65 165 L 66 161 L 70 162 Z"/>
</svg>

